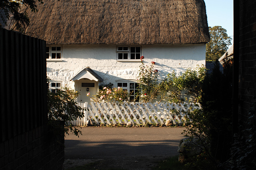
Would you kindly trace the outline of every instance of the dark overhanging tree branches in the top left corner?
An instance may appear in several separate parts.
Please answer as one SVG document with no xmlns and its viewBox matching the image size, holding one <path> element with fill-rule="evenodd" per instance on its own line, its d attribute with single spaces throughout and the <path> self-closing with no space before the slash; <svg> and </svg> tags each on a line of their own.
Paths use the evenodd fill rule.
<svg viewBox="0 0 256 170">
<path fill-rule="evenodd" d="M 43 0 L 1 0 L 0 20 L 9 27 L 9 30 L 23 32 L 24 27 L 30 23 L 27 10 L 37 12 L 37 1 L 43 4 Z M 1 24 L 0 27 L 2 27 Z"/>
</svg>

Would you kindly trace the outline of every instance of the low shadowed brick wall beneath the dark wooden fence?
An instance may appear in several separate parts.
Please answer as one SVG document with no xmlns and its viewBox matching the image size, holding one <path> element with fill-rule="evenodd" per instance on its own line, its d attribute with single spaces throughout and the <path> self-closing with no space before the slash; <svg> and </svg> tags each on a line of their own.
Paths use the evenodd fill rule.
<svg viewBox="0 0 256 170">
<path fill-rule="evenodd" d="M 0 143 L 0 170 L 61 170 L 62 134 L 54 136 L 41 126 Z"/>
</svg>

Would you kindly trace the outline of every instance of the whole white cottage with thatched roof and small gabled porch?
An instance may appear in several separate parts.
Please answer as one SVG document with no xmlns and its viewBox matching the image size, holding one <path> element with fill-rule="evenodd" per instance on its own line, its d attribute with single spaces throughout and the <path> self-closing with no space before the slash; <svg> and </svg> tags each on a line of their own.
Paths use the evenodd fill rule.
<svg viewBox="0 0 256 170">
<path fill-rule="evenodd" d="M 204 0 L 44 0 L 27 34 L 47 42 L 50 89 L 67 85 L 89 101 L 100 84 L 136 88 L 140 57 L 160 76 L 205 64 Z"/>
</svg>

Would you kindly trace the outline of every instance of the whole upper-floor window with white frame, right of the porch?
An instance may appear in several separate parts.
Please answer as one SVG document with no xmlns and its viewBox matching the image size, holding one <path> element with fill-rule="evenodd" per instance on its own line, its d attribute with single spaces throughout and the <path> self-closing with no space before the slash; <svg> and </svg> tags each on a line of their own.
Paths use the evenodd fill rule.
<svg viewBox="0 0 256 170">
<path fill-rule="evenodd" d="M 117 59 L 118 60 L 139 60 L 141 56 L 140 46 L 118 46 L 117 47 Z"/>
</svg>

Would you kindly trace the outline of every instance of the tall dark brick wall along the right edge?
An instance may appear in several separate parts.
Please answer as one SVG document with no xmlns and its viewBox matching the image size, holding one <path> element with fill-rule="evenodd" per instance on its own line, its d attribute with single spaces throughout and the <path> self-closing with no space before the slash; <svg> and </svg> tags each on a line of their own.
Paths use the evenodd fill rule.
<svg viewBox="0 0 256 170">
<path fill-rule="evenodd" d="M 255 0 L 239 1 L 239 113 L 246 115 L 256 96 Z"/>
</svg>

